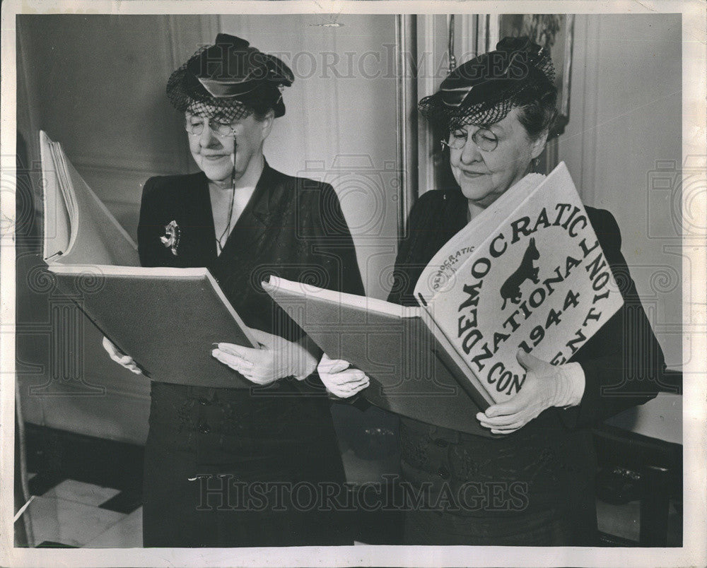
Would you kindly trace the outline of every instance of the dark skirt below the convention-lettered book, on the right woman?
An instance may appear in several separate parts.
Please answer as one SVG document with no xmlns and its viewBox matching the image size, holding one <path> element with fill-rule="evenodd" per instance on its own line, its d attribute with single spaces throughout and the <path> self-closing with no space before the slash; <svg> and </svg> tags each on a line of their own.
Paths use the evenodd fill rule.
<svg viewBox="0 0 707 568">
<path fill-rule="evenodd" d="M 488 439 L 401 420 L 404 544 L 593 546 L 588 430 L 527 425 Z"/>
</svg>

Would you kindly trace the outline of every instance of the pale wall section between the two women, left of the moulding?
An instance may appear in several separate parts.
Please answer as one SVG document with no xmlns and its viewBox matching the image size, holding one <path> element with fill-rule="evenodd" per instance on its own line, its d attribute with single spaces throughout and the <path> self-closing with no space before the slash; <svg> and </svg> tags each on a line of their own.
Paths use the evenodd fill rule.
<svg viewBox="0 0 707 568">
<path fill-rule="evenodd" d="M 221 16 L 219 27 L 295 73 L 265 155 L 276 169 L 334 186 L 366 292 L 385 300 L 399 193 L 395 16 Z"/>
</svg>

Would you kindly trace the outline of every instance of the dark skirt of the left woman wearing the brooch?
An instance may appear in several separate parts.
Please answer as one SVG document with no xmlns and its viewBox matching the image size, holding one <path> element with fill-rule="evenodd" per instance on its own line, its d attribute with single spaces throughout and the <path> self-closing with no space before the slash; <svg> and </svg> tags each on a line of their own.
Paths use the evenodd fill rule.
<svg viewBox="0 0 707 568">
<path fill-rule="evenodd" d="M 329 402 L 153 383 L 146 547 L 349 545 Z"/>
</svg>

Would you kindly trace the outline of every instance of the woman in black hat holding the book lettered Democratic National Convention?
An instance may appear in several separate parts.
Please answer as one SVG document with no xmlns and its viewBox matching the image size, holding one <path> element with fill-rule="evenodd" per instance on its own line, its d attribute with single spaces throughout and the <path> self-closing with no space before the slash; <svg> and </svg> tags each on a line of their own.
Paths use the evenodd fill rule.
<svg viewBox="0 0 707 568">
<path fill-rule="evenodd" d="M 553 79 L 544 49 L 527 38 L 508 37 L 496 51 L 457 67 L 438 93 L 421 100 L 423 114 L 447 133 L 442 144 L 458 187 L 428 191 L 412 208 L 390 301 L 416 305 L 414 287 L 434 254 L 532 171 L 555 115 Z M 655 382 L 636 389 L 635 381 L 624 383 L 625 369 L 643 369 L 655 378 L 665 363 L 621 255 L 614 217 L 587 211 L 623 283 L 624 307 L 566 365 L 549 365 L 519 350 L 527 369 L 523 388 L 510 401 L 477 413 L 479 435 L 402 418 L 404 488 L 414 497 L 405 543 L 596 544 L 590 427 L 655 396 L 636 396 L 650 392 Z M 625 331 L 624 322 L 631 329 Z M 352 396 L 365 386 L 351 388 L 348 381 L 363 374 L 331 371 L 344 366 L 325 357 L 320 376 L 330 391 Z M 617 384 L 624 384 L 624 396 L 602 396 L 602 386 Z"/>
</svg>

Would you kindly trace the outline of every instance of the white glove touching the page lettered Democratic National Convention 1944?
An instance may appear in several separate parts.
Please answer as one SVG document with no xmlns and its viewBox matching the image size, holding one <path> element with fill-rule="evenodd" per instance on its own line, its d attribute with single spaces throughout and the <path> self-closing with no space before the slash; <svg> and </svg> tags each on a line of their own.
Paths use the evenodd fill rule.
<svg viewBox="0 0 707 568">
<path fill-rule="evenodd" d="M 584 371 L 579 363 L 550 365 L 525 350 L 516 354 L 526 371 L 525 381 L 513 398 L 477 413 L 481 426 L 493 434 L 510 434 L 551 406 L 577 406 L 585 388 Z"/>
</svg>

